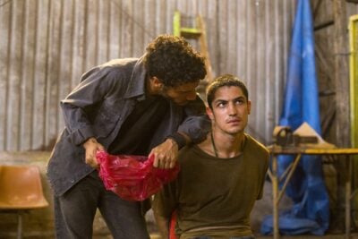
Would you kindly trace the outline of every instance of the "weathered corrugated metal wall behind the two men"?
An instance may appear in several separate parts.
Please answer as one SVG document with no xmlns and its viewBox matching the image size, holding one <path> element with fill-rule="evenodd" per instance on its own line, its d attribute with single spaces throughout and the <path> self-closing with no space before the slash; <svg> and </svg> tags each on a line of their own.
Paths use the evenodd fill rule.
<svg viewBox="0 0 358 239">
<path fill-rule="evenodd" d="M 203 16 L 214 76 L 233 73 L 247 82 L 249 132 L 270 142 L 295 2 L 1 0 L 0 150 L 51 149 L 64 126 L 59 101 L 81 73 L 115 57 L 140 56 L 152 38 L 172 33 L 175 10 Z"/>
</svg>

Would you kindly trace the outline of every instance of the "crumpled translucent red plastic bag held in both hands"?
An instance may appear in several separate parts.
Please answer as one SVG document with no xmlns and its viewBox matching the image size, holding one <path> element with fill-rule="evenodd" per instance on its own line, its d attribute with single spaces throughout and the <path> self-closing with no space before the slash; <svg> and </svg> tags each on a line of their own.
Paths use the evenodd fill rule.
<svg viewBox="0 0 358 239">
<path fill-rule="evenodd" d="M 171 169 L 154 167 L 154 157 L 110 155 L 102 150 L 97 152 L 96 157 L 99 177 L 106 189 L 128 201 L 148 199 L 163 184 L 175 179 L 180 170 L 178 164 Z"/>
</svg>

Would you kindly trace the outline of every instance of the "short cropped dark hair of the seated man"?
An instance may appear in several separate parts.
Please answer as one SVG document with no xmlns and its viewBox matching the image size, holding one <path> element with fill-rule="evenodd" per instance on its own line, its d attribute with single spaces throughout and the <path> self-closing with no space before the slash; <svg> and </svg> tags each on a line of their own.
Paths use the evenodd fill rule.
<svg viewBox="0 0 358 239">
<path fill-rule="evenodd" d="M 217 77 L 214 81 L 207 87 L 207 103 L 208 106 L 212 109 L 211 103 L 214 100 L 215 92 L 217 89 L 224 87 L 224 86 L 236 86 L 243 90 L 243 95 L 249 100 L 249 91 L 247 90 L 243 81 L 240 81 L 239 78 L 235 77 L 232 74 L 224 74 Z"/>
</svg>

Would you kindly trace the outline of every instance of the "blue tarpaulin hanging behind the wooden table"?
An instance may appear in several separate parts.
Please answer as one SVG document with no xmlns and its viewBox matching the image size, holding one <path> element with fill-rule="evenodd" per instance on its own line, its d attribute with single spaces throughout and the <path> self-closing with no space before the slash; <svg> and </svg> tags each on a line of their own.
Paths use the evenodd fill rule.
<svg viewBox="0 0 358 239">
<path fill-rule="evenodd" d="M 306 122 L 320 134 L 320 106 L 309 0 L 298 1 L 284 99 L 279 125 L 290 126 L 295 130 Z M 279 156 L 278 174 L 282 175 L 293 161 L 292 156 Z M 303 156 L 287 185 L 286 195 L 294 204 L 292 209 L 280 213 L 279 232 L 286 235 L 323 235 L 329 224 L 329 200 L 320 157 Z M 272 232 L 273 219 L 270 215 L 264 218 L 261 233 L 271 235 Z"/>
</svg>

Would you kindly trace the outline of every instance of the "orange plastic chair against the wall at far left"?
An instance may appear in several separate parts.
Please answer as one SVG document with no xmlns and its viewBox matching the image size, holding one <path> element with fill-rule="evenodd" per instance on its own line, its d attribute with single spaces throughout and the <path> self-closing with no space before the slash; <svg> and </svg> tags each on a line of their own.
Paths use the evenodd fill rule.
<svg viewBox="0 0 358 239">
<path fill-rule="evenodd" d="M 0 166 L 0 212 L 17 213 L 17 238 L 22 238 L 22 214 L 47 206 L 38 166 Z"/>
</svg>

